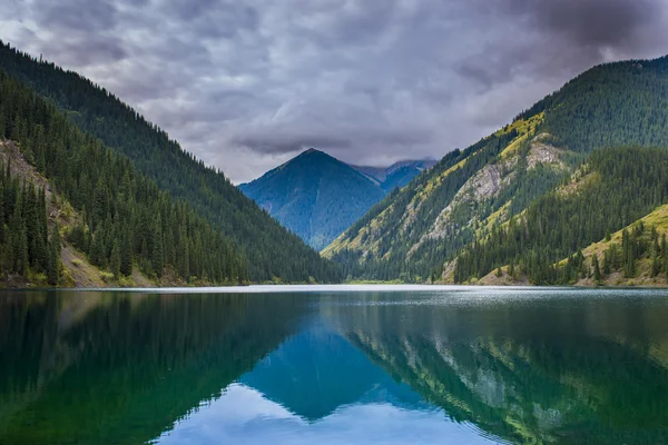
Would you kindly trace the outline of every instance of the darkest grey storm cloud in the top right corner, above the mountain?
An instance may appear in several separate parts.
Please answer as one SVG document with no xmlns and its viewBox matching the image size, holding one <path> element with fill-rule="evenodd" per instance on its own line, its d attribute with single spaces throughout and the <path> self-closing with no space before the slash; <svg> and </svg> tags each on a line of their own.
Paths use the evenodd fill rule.
<svg viewBox="0 0 668 445">
<path fill-rule="evenodd" d="M 664 0 L 499 0 L 477 1 L 477 7 L 520 27 L 458 65 L 460 75 L 488 88 L 517 76 L 572 73 L 607 61 L 610 53 L 660 55 L 652 51 L 666 42 Z M 522 38 L 513 39 L 518 32 Z"/>
</svg>

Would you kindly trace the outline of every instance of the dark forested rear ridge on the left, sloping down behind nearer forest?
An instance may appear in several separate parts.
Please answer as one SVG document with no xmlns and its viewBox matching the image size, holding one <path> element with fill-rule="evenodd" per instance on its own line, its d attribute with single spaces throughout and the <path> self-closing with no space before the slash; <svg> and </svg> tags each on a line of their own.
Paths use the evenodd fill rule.
<svg viewBox="0 0 668 445">
<path fill-rule="evenodd" d="M 197 215 L 222 230 L 247 258 L 250 280 L 341 279 L 336 265 L 322 259 L 296 235 L 273 220 L 222 171 L 206 167 L 184 151 L 165 131 L 106 89 L 2 42 L 0 68 L 50 100 L 81 131 L 126 156 L 159 189 L 187 201 Z M 150 248 L 150 243 L 147 244 Z"/>
</svg>

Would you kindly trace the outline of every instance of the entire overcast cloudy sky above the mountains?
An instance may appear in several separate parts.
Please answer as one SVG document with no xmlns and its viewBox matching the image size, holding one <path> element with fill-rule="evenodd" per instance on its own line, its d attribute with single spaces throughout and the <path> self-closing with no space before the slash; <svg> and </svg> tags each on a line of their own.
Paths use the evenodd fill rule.
<svg viewBox="0 0 668 445">
<path fill-rule="evenodd" d="M 668 0 L 2 0 L 0 39 L 238 184 L 311 147 L 440 159 L 597 63 L 668 53 Z"/>
</svg>

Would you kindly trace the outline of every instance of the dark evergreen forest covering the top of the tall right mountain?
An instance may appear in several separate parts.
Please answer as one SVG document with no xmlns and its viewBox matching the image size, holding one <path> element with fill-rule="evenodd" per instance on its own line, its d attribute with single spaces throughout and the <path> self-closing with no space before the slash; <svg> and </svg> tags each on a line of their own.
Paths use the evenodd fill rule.
<svg viewBox="0 0 668 445">
<path fill-rule="evenodd" d="M 668 56 L 597 66 L 518 119 L 544 112 L 540 130 L 562 147 L 668 147 Z"/>
</svg>

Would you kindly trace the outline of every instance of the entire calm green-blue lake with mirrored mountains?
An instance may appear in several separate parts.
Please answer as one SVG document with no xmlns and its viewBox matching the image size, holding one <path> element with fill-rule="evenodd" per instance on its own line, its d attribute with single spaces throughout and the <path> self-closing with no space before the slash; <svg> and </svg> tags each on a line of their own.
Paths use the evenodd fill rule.
<svg viewBox="0 0 668 445">
<path fill-rule="evenodd" d="M 0 444 L 668 443 L 668 290 L 234 290 L 0 293 Z"/>
</svg>

